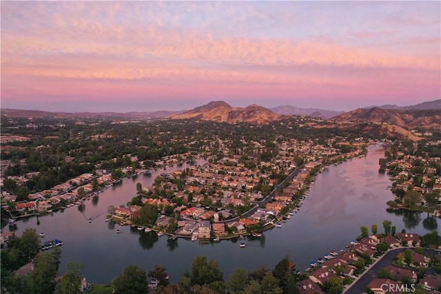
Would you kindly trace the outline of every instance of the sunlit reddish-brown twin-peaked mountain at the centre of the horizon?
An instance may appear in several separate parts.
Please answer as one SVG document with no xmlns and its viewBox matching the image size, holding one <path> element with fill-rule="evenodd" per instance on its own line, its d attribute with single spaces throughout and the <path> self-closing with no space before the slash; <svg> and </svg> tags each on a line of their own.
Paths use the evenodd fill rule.
<svg viewBox="0 0 441 294">
<path fill-rule="evenodd" d="M 219 123 L 271 123 L 271 121 L 280 119 L 280 115 L 271 112 L 271 110 L 253 104 L 245 108 L 232 107 L 223 101 L 212 101 L 206 105 L 196 107 L 182 114 L 172 114 L 167 116 L 172 119 L 211 120 Z"/>
</svg>

